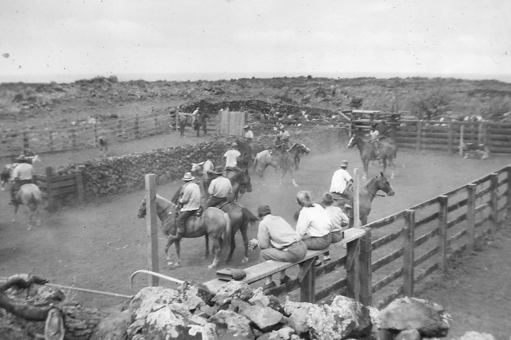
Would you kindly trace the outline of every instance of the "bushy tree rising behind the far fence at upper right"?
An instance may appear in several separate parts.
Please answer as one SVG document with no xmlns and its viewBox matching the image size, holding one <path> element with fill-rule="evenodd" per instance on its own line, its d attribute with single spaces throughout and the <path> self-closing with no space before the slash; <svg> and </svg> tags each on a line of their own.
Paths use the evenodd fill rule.
<svg viewBox="0 0 511 340">
<path fill-rule="evenodd" d="M 417 119 L 431 120 L 450 109 L 451 99 L 442 89 L 422 92 L 410 102 Z"/>
</svg>

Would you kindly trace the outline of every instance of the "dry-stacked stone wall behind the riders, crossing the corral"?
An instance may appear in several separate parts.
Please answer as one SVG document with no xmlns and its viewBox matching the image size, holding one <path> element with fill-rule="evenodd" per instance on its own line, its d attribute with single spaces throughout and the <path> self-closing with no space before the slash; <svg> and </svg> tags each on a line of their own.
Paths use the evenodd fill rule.
<svg viewBox="0 0 511 340">
<path fill-rule="evenodd" d="M 289 127 L 291 142 L 301 142 L 311 149 L 311 153 L 323 153 L 338 148 L 346 136 L 336 127 Z M 270 147 L 274 134 L 261 135 L 255 141 Z M 221 137 L 213 142 L 194 145 L 181 145 L 167 149 L 156 149 L 144 153 L 128 154 L 120 157 L 89 160 L 85 163 L 67 164 L 55 169 L 55 174 L 65 175 L 74 173 L 77 169 L 82 172 L 85 200 L 97 197 L 117 195 L 143 189 L 144 176 L 156 174 L 156 184 L 169 183 L 189 172 L 192 163 L 205 160 L 206 153 L 215 155 L 214 164 L 220 164 L 222 155 L 227 151 L 232 137 Z M 74 195 L 59 198 L 58 205 L 73 205 Z"/>
</svg>

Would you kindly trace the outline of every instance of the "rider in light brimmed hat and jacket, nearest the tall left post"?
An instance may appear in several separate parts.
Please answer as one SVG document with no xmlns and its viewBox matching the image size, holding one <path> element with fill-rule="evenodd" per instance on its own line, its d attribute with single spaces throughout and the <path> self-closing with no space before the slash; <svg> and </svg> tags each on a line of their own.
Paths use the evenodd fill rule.
<svg viewBox="0 0 511 340">
<path fill-rule="evenodd" d="M 176 240 L 181 240 L 183 234 L 185 232 L 184 223 L 187 221 L 188 217 L 193 215 L 200 208 L 200 188 L 199 185 L 193 180 L 195 177 L 192 176 L 192 173 L 185 173 L 183 178 L 181 178 L 185 183 L 181 187 L 179 192 L 178 199 L 178 208 L 179 215 L 177 216 L 177 238 Z"/>
</svg>

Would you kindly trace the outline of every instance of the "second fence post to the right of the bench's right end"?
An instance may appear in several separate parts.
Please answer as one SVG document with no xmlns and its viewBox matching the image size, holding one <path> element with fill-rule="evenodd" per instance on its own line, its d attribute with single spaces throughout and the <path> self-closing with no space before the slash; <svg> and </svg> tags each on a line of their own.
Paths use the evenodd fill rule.
<svg viewBox="0 0 511 340">
<path fill-rule="evenodd" d="M 405 227 L 403 228 L 403 295 L 413 296 L 413 261 L 415 244 L 415 210 L 405 210 Z"/>
</svg>

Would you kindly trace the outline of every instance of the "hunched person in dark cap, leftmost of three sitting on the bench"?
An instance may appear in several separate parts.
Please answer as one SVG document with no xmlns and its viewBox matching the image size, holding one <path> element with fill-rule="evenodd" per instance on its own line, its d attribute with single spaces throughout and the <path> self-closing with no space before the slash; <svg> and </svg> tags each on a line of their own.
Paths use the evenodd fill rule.
<svg viewBox="0 0 511 340">
<path fill-rule="evenodd" d="M 266 260 L 275 260 L 282 262 L 296 262 L 305 257 L 307 247 L 304 242 L 289 223 L 280 216 L 271 214 L 270 207 L 267 205 L 259 206 L 258 215 L 261 220 L 257 239 L 248 242 L 250 249 L 261 248 L 259 253 L 259 262 Z M 280 284 L 289 280 L 286 271 L 281 273 Z M 272 277 L 265 279 L 263 289 L 269 289 L 275 286 Z"/>
</svg>

